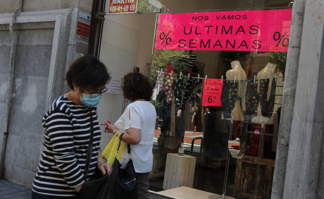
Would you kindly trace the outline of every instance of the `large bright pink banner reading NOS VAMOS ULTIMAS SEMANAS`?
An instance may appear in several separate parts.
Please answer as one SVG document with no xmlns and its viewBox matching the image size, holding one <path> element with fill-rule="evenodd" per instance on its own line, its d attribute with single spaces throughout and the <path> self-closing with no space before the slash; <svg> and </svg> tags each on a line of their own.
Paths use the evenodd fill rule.
<svg viewBox="0 0 324 199">
<path fill-rule="evenodd" d="M 291 9 L 159 14 L 155 49 L 287 52 Z"/>
</svg>

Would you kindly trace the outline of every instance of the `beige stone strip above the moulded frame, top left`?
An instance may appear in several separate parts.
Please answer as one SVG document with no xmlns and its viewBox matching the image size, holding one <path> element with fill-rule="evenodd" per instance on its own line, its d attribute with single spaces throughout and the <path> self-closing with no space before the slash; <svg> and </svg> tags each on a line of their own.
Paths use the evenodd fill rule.
<svg viewBox="0 0 324 199">
<path fill-rule="evenodd" d="M 0 0 L 0 14 L 15 12 L 19 2 L 20 0 Z M 64 8 L 81 8 L 91 11 L 92 2 L 92 0 L 23 0 L 22 12 Z"/>
</svg>

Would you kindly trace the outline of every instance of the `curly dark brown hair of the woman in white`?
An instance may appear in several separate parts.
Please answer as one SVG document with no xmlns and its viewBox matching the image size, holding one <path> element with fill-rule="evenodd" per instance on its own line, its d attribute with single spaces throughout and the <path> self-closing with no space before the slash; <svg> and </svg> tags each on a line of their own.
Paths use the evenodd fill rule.
<svg viewBox="0 0 324 199">
<path fill-rule="evenodd" d="M 151 100 L 153 87 L 150 81 L 142 73 L 128 73 L 122 79 L 121 88 L 123 96 L 129 100 Z"/>
</svg>

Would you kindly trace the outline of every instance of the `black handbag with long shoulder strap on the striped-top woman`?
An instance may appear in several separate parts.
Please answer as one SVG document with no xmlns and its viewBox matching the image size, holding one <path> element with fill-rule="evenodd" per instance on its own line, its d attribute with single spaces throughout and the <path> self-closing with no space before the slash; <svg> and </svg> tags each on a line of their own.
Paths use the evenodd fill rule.
<svg viewBox="0 0 324 199">
<path fill-rule="evenodd" d="M 87 174 L 90 167 L 90 160 L 92 154 L 92 146 L 93 146 L 93 118 L 92 118 L 92 110 L 90 110 L 90 118 L 91 118 L 91 137 L 90 143 L 87 149 L 87 160 L 86 160 L 86 170 L 85 170 L 85 182 L 75 196 L 75 199 L 106 199 L 108 197 L 108 173 L 102 175 L 101 171 L 97 169 L 93 180 L 87 181 Z"/>
</svg>

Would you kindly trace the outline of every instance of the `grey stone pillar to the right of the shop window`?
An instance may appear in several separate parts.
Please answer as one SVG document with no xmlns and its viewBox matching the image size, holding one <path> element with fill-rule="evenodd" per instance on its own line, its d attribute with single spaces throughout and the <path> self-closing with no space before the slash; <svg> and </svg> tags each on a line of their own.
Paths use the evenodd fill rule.
<svg viewBox="0 0 324 199">
<path fill-rule="evenodd" d="M 323 7 L 294 1 L 272 199 L 324 198 Z"/>
</svg>

